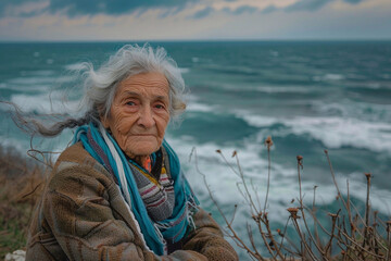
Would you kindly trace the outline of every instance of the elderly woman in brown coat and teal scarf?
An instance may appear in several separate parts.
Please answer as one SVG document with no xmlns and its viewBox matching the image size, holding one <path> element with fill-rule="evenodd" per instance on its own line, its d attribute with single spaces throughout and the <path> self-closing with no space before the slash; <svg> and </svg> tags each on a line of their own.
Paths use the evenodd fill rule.
<svg viewBox="0 0 391 261">
<path fill-rule="evenodd" d="M 125 46 L 86 73 L 78 126 L 59 157 L 29 229 L 26 260 L 238 260 L 200 207 L 164 139 L 186 105 L 163 48 Z"/>
</svg>

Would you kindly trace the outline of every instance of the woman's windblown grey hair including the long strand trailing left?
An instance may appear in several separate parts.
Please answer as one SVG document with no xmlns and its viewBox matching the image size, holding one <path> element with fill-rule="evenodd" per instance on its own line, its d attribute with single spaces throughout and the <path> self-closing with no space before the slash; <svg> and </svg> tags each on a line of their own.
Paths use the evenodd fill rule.
<svg viewBox="0 0 391 261">
<path fill-rule="evenodd" d="M 15 107 L 14 121 L 23 129 L 46 137 L 59 135 L 65 128 L 74 128 L 92 121 L 99 122 L 101 116 L 109 116 L 119 83 L 129 76 L 149 72 L 162 73 L 167 78 L 168 111 L 171 119 L 176 120 L 186 109 L 182 100 L 185 82 L 176 62 L 162 47 L 153 49 L 149 45 L 142 47 L 126 45 L 97 71 L 91 63 L 83 63 L 79 74 L 84 79 L 81 84 L 84 97 L 78 108 L 81 116 L 66 116 L 61 120 L 52 117 L 49 124 L 45 124 L 36 117 L 24 116 L 13 104 Z"/>
</svg>

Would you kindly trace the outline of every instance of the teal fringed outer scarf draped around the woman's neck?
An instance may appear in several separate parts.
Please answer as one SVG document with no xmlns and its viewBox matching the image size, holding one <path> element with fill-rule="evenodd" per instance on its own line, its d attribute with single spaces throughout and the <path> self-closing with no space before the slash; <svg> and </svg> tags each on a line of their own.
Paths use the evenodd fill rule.
<svg viewBox="0 0 391 261">
<path fill-rule="evenodd" d="M 157 256 L 166 254 L 166 241 L 174 244 L 181 240 L 191 223 L 191 211 L 199 204 L 187 179 L 180 171 L 180 163 L 175 151 L 163 140 L 163 147 L 168 156 L 169 174 L 174 181 L 175 207 L 171 217 L 153 222 L 148 215 L 147 208 L 138 192 L 137 184 L 124 152 L 114 138 L 96 124 L 77 128 L 74 144 L 81 141 L 84 148 L 115 177 L 121 187 L 125 201 L 130 206 L 147 246 Z M 121 175 L 123 172 L 125 175 Z M 125 176 L 125 177 L 124 177 Z"/>
</svg>

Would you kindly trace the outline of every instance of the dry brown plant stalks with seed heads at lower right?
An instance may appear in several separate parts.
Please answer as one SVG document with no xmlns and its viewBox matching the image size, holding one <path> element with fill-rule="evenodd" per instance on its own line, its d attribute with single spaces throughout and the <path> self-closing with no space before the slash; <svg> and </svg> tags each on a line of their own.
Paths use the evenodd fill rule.
<svg viewBox="0 0 391 261">
<path fill-rule="evenodd" d="M 265 140 L 265 146 L 268 153 L 268 173 L 265 204 L 263 208 L 260 206 L 258 194 L 252 186 L 253 184 L 251 184 L 251 182 L 249 183 L 248 178 L 245 178 L 238 153 L 234 151 L 232 158 L 236 159 L 236 164 L 231 164 L 220 150 L 216 151 L 220 154 L 227 167 L 230 169 L 239 179 L 238 184 L 240 186 L 238 186 L 238 194 L 248 207 L 247 213 L 252 216 L 252 223 L 249 222 L 247 224 L 247 236 L 240 236 L 232 225 L 237 206 L 235 206 L 234 214 L 229 214 L 231 217 L 228 217 L 228 213 L 224 213 L 219 208 L 206 182 L 206 175 L 200 172 L 198 167 L 197 152 L 193 150 L 197 171 L 203 176 L 210 197 L 226 223 L 225 234 L 232 238 L 239 248 L 247 251 L 251 260 L 391 261 L 391 221 L 384 216 L 381 219 L 379 213 L 373 211 L 370 208 L 371 174 L 364 173 L 367 190 L 365 208 L 361 211 L 350 198 L 349 183 L 348 195 L 340 192 L 327 150 L 325 150 L 325 156 L 330 166 L 330 175 L 337 190 L 336 199 L 340 204 L 340 209 L 333 213 L 319 212 L 315 203 L 316 186 L 313 191 L 314 199 L 312 206 L 305 206 L 303 203 L 301 176 L 303 157 L 298 156 L 299 196 L 297 203 L 291 208 L 287 208 L 289 217 L 285 227 L 281 227 L 281 229 L 272 229 L 269 221 L 273 216 L 268 215 L 266 208 L 272 169 L 270 147 L 273 146 L 273 141 L 270 137 Z M 291 203 L 293 203 L 293 201 Z M 320 222 L 320 220 L 323 222 Z M 325 222 L 325 220 L 328 220 L 328 222 Z M 291 233 L 288 233 L 288 231 Z M 260 240 L 263 244 L 256 244 Z"/>
</svg>

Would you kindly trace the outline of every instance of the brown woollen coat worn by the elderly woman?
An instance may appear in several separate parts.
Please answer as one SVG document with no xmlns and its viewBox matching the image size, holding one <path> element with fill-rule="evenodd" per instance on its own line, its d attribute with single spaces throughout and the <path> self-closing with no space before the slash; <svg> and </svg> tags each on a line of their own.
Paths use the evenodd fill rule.
<svg viewBox="0 0 391 261">
<path fill-rule="evenodd" d="M 55 163 L 33 217 L 26 260 L 238 260 L 216 222 L 202 209 L 182 250 L 157 257 L 136 228 L 105 169 L 76 144 Z"/>
</svg>

